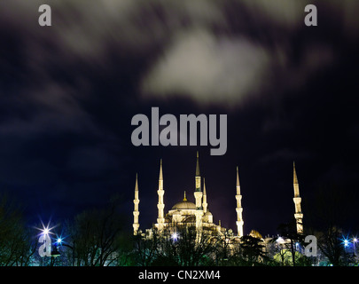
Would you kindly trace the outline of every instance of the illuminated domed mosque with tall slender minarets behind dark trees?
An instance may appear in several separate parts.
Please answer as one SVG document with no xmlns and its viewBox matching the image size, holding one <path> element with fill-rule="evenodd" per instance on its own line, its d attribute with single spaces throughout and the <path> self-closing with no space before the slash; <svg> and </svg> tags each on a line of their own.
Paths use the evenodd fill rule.
<svg viewBox="0 0 359 284">
<path fill-rule="evenodd" d="M 303 233 L 303 213 L 301 212 L 300 208 L 300 192 L 299 192 L 299 184 L 298 178 L 295 171 L 295 164 L 293 163 L 293 189 L 294 189 L 294 205 L 295 205 L 295 214 L 294 217 L 296 219 L 296 226 L 297 226 L 297 233 Z M 157 223 L 154 224 L 154 227 L 157 228 L 158 232 L 163 232 L 167 230 L 171 233 L 176 232 L 176 227 L 181 225 L 189 225 L 196 228 L 196 232 L 207 232 L 207 233 L 221 233 L 226 230 L 226 228 L 221 226 L 221 223 L 216 225 L 213 222 L 213 215 L 208 209 L 207 203 L 207 193 L 206 193 L 206 184 L 205 178 L 203 178 L 203 185 L 202 185 L 202 178 L 200 176 L 199 171 L 199 153 L 197 152 L 197 163 L 196 163 L 196 175 L 195 175 L 195 189 L 194 189 L 194 199 L 195 203 L 188 201 L 186 198 L 186 193 L 184 192 L 183 201 L 177 202 L 171 209 L 168 210 L 168 213 L 165 214 L 164 208 L 165 204 L 163 201 L 163 196 L 165 191 L 163 190 L 163 174 L 162 174 L 162 160 L 160 160 L 160 177 L 159 177 L 159 187 L 158 187 L 158 217 Z M 236 213 L 237 213 L 237 234 L 233 233 L 232 237 L 235 239 L 239 239 L 244 235 L 243 232 L 243 225 L 244 220 L 242 217 L 242 195 L 240 192 L 240 185 L 239 185 L 239 176 L 238 176 L 238 167 L 237 167 L 237 182 L 236 182 L 236 194 L 235 198 L 237 201 Z M 134 199 L 134 223 L 133 223 L 133 230 L 134 235 L 138 233 L 142 233 L 139 230 L 139 198 L 138 198 L 138 183 L 136 177 L 136 184 L 135 184 L 135 199 Z M 150 231 L 150 230 L 147 230 Z M 231 231 L 232 232 L 232 231 Z M 257 232 L 251 232 L 250 234 L 259 234 Z"/>
</svg>

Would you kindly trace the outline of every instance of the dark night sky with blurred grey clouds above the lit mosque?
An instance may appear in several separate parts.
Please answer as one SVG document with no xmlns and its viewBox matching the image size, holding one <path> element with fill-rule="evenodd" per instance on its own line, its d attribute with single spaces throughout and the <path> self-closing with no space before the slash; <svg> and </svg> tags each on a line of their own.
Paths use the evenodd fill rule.
<svg viewBox="0 0 359 284">
<path fill-rule="evenodd" d="M 0 2 L 0 193 L 29 223 L 119 194 L 130 231 L 138 173 L 148 228 L 160 158 L 167 212 L 183 191 L 194 201 L 199 151 L 216 224 L 236 231 L 238 166 L 245 234 L 277 233 L 293 218 L 295 161 L 304 226 L 333 210 L 357 232 L 358 1 L 49 0 L 52 26 L 40 27 L 43 2 Z M 317 27 L 304 24 L 306 4 Z M 133 146 L 131 119 L 152 106 L 227 114 L 227 153 Z"/>
</svg>

